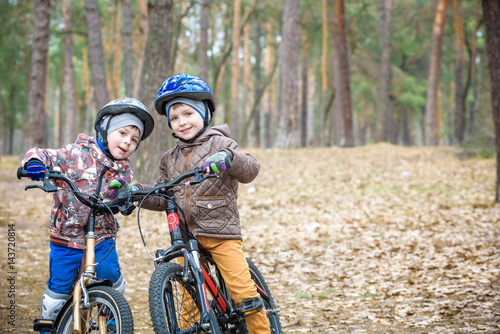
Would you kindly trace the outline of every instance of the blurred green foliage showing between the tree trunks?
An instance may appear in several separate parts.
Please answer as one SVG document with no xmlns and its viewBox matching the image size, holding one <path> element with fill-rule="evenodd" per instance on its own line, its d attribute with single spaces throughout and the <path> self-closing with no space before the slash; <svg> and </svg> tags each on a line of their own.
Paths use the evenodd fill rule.
<svg viewBox="0 0 500 334">
<path fill-rule="evenodd" d="M 258 2 L 257 2 L 258 1 Z M 22 128 L 26 123 L 26 107 L 28 93 L 28 72 L 30 64 L 30 52 L 32 45 L 33 29 L 33 3 L 31 1 L 4 1 L 2 11 L 0 12 L 0 125 L 2 131 L 5 129 Z M 116 41 L 115 29 L 117 18 L 116 0 L 99 0 L 99 11 L 101 15 L 102 40 L 105 45 L 105 64 L 107 74 L 114 71 L 115 55 L 112 53 L 115 47 L 121 47 L 121 41 Z M 272 48 L 274 57 L 279 54 L 279 41 L 283 34 L 282 14 L 283 2 L 271 0 L 243 0 L 242 15 L 245 10 L 254 8 L 255 12 L 250 18 L 251 34 L 255 34 L 255 22 L 261 23 L 262 36 L 260 38 L 263 54 L 261 60 L 261 73 L 264 75 L 266 48 Z M 200 1 L 188 2 L 188 14 L 184 17 L 186 3 L 174 2 L 173 6 L 173 42 L 171 48 L 176 60 L 173 72 L 184 70 L 193 74 L 198 73 L 198 49 L 199 40 L 199 20 L 200 20 Z M 300 57 L 302 57 L 303 35 L 307 34 L 309 45 L 309 73 L 315 78 L 315 91 L 310 95 L 314 99 L 314 119 L 317 123 L 316 130 L 323 126 L 323 101 L 334 90 L 334 52 L 332 44 L 332 19 L 335 15 L 333 1 L 327 1 L 328 18 L 328 36 L 327 49 L 328 59 L 326 65 L 328 88 L 327 97 L 322 92 L 322 49 L 323 49 L 323 8 L 321 2 L 311 6 L 310 1 L 301 0 L 301 22 L 300 22 Z M 379 132 L 382 115 L 377 110 L 378 105 L 378 85 L 380 81 L 380 8 L 378 1 L 360 0 L 344 1 L 347 53 L 349 57 L 349 69 L 351 79 L 351 101 L 353 106 L 353 122 L 355 132 L 360 132 L 360 127 L 365 126 L 372 138 L 367 141 L 376 140 L 375 134 Z M 225 65 L 223 77 L 221 78 L 220 95 L 218 96 L 218 116 L 224 111 L 224 104 L 231 97 L 231 55 L 224 58 L 226 48 L 230 46 L 232 37 L 232 8 L 233 1 L 213 0 L 211 1 L 209 17 L 209 84 L 215 89 L 215 73 Z M 475 1 L 462 1 L 463 23 L 465 28 L 466 52 L 465 52 L 465 71 L 464 83 L 467 84 L 469 76 L 470 46 L 475 24 Z M 434 1 L 408 0 L 395 1 L 392 16 L 392 86 L 391 103 L 395 115 L 403 115 L 411 111 L 409 127 L 412 130 L 412 136 L 416 137 L 417 131 L 423 123 L 423 109 L 427 93 L 427 77 L 429 71 L 429 56 L 432 43 L 432 26 L 435 16 L 436 3 Z M 132 11 L 132 43 L 133 43 L 133 66 L 134 71 L 137 65 L 139 51 L 137 41 L 142 37 L 141 18 L 142 13 L 137 1 L 131 2 Z M 72 36 L 74 48 L 74 70 L 76 94 L 79 102 L 80 122 L 84 119 L 86 110 L 83 88 L 83 53 L 88 52 L 87 28 L 85 15 L 85 2 L 81 0 L 72 0 Z M 120 14 L 120 12 L 118 13 Z M 308 21 L 304 18 L 308 15 Z M 482 10 L 479 8 L 479 17 Z M 181 19 L 184 19 L 181 21 Z M 274 43 L 267 45 L 265 38 L 266 25 L 272 23 Z M 48 96 L 47 106 L 49 115 L 55 114 L 61 103 L 65 100 L 64 86 L 62 85 L 64 69 L 64 31 L 62 18 L 62 2 L 53 1 L 51 11 L 50 26 L 50 50 L 49 50 L 49 73 L 48 73 Z M 480 85 L 479 96 L 474 97 L 471 86 L 468 87 L 466 98 L 466 107 L 474 100 L 476 106 L 481 106 L 477 110 L 475 124 L 472 127 L 473 135 L 482 136 L 491 133 L 491 110 L 489 106 L 489 79 L 486 62 L 485 36 L 482 21 L 479 21 L 479 32 L 477 34 L 477 81 Z M 224 33 L 225 32 L 225 33 Z M 180 38 L 185 36 L 185 39 Z M 250 52 L 252 66 L 255 61 L 252 56 L 256 50 L 255 38 L 252 35 L 250 40 Z M 180 45 L 182 41 L 186 44 Z M 134 44 L 136 43 L 136 44 Z M 243 51 L 243 43 L 239 50 Z M 123 59 L 123 57 L 122 57 Z M 443 39 L 442 60 L 440 71 L 440 105 L 442 108 L 441 134 L 443 138 L 450 136 L 453 132 L 453 110 L 454 110 L 454 82 L 455 82 L 455 61 L 456 45 L 455 33 L 453 27 L 453 10 L 451 4 L 446 12 L 445 35 Z M 301 64 L 301 62 L 299 62 Z M 301 65 L 299 65 L 301 66 Z M 300 68 L 298 69 L 301 70 Z M 107 78 L 108 81 L 112 80 Z M 275 94 L 278 91 L 278 80 L 275 80 L 268 89 L 273 90 L 274 108 L 273 122 L 277 124 L 278 112 Z M 124 87 L 122 78 L 121 87 Z M 252 78 L 252 81 L 254 79 Z M 243 84 L 243 83 L 241 83 Z M 313 86 L 313 85 L 311 85 Z M 310 86 L 310 87 L 311 87 Z M 62 89 L 61 89 L 62 87 Z M 311 89 L 311 88 L 310 88 Z M 240 92 L 242 90 L 240 89 Z M 62 96 L 61 96 L 62 94 Z M 249 93 L 250 101 L 253 102 L 253 92 Z M 113 96 L 112 96 L 113 97 Z M 145 101 L 146 104 L 149 101 Z M 220 113 L 220 115 L 219 115 Z M 51 116 L 52 117 L 52 116 Z M 401 124 L 401 119 L 397 120 Z M 53 120 L 49 119 L 49 124 Z M 82 129 L 83 124 L 79 124 Z M 332 122 L 327 121 L 327 126 L 333 126 Z M 468 126 L 468 125 L 467 125 Z M 399 132 L 403 132 L 400 128 Z M 2 132 L 1 135 L 3 135 Z M 53 134 L 49 134 L 52 136 Z M 318 135 L 316 133 L 316 135 Z M 1 136 L 0 136 L 1 137 Z M 421 140 L 422 138 L 420 138 Z M 418 144 L 414 138 L 413 142 Z M 18 152 L 19 153 L 19 152 Z M 486 154 L 486 153 L 485 153 Z"/>
</svg>

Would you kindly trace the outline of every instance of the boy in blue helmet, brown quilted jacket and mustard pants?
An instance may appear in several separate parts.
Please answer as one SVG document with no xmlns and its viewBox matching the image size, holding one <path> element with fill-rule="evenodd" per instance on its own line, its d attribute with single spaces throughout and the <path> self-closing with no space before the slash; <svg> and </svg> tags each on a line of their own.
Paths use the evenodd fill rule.
<svg viewBox="0 0 500 334">
<path fill-rule="evenodd" d="M 260 170 L 259 162 L 239 150 L 227 125 L 209 128 L 215 97 L 200 78 L 178 74 L 167 79 L 158 91 L 155 109 L 167 117 L 173 136 L 178 139 L 161 159 L 158 183 L 171 181 L 199 166 L 219 174 L 218 178 L 180 188 L 175 199 L 183 203 L 187 225 L 213 256 L 235 303 L 240 306 L 246 299 L 259 297 L 243 253 L 237 206 L 238 183 L 254 180 Z M 165 202 L 158 198 L 146 199 L 142 207 L 166 209 Z M 265 309 L 248 316 L 246 322 L 249 333 L 269 333 Z"/>
</svg>

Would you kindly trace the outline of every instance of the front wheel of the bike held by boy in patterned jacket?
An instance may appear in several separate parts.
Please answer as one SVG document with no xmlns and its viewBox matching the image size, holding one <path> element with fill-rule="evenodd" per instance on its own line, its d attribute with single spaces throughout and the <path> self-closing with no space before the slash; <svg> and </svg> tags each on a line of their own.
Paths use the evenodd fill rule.
<svg viewBox="0 0 500 334">
<path fill-rule="evenodd" d="M 82 334 L 134 333 L 132 311 L 125 297 L 109 286 L 96 286 L 88 290 L 90 307 L 81 310 Z M 56 333 L 73 333 L 73 305 L 61 315 Z"/>
</svg>

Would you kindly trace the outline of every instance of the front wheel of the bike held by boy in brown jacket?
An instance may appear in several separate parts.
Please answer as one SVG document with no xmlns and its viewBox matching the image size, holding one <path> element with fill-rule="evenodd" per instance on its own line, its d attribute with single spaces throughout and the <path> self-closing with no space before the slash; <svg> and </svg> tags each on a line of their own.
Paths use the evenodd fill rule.
<svg viewBox="0 0 500 334">
<path fill-rule="evenodd" d="M 156 268 L 149 283 L 149 312 L 155 333 L 213 333 L 219 326 L 213 312 L 210 328 L 200 326 L 196 288 L 183 277 L 183 267 L 165 263 Z"/>
</svg>

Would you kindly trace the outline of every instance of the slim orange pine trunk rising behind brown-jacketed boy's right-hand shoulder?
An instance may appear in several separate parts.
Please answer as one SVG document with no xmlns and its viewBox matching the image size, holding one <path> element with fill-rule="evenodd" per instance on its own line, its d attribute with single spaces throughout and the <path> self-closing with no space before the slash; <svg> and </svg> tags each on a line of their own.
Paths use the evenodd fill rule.
<svg viewBox="0 0 500 334">
<path fill-rule="evenodd" d="M 231 114 L 227 117 L 232 132 L 239 135 L 239 83 L 240 83 L 240 16 L 241 0 L 234 0 L 233 8 L 233 55 L 231 72 Z"/>
</svg>

